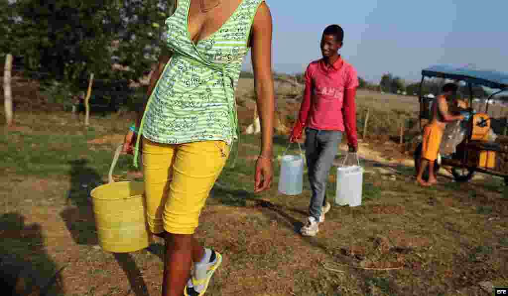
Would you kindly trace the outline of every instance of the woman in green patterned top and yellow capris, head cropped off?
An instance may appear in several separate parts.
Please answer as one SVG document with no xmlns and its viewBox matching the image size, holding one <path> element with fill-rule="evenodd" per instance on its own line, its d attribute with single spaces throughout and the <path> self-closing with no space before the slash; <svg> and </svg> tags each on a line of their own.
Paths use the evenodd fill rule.
<svg viewBox="0 0 508 296">
<path fill-rule="evenodd" d="M 193 234 L 239 137 L 234 92 L 249 49 L 262 126 L 254 189 L 271 185 L 272 18 L 264 0 L 177 0 L 166 25 L 167 50 L 124 152 L 134 152 L 137 165 L 143 148 L 147 219 L 166 243 L 163 295 L 202 295 L 221 255 L 201 247 Z"/>
</svg>

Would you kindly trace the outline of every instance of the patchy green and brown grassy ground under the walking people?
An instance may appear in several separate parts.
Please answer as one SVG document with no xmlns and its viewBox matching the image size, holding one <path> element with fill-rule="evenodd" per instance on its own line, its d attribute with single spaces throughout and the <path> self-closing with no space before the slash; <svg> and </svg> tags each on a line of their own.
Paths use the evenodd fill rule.
<svg viewBox="0 0 508 296">
<path fill-rule="evenodd" d="M 33 286 L 67 265 L 53 295 L 160 294 L 163 246 L 104 252 L 88 198 L 128 120 L 93 117 L 88 129 L 66 113 L 17 120 L 24 129 L 0 136 L 0 268 L 18 267 Z M 480 282 L 508 285 L 508 199 L 499 180 L 458 186 L 440 177 L 437 187 L 421 188 L 410 167 L 364 160 L 363 205 L 333 206 L 319 235 L 305 238 L 297 230 L 307 182 L 301 195 L 279 194 L 276 182 L 252 193 L 259 144 L 258 136 L 243 138 L 237 168 L 221 174 L 202 213 L 198 239 L 224 255 L 208 295 L 488 295 Z M 275 154 L 285 145 L 275 138 Z M 120 159 L 121 179 L 132 178 L 130 161 Z M 330 181 L 333 199 L 333 170 Z"/>
</svg>

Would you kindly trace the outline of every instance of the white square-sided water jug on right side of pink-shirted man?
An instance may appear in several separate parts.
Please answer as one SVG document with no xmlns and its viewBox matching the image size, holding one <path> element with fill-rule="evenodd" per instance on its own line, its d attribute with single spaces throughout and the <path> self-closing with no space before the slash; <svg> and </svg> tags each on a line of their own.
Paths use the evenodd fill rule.
<svg viewBox="0 0 508 296">
<path fill-rule="evenodd" d="M 344 159 L 344 164 L 348 155 L 349 153 Z M 358 165 L 345 166 L 343 164 L 337 168 L 335 203 L 339 206 L 358 207 L 362 205 L 363 168 L 360 166 L 358 155 L 356 157 Z"/>
</svg>

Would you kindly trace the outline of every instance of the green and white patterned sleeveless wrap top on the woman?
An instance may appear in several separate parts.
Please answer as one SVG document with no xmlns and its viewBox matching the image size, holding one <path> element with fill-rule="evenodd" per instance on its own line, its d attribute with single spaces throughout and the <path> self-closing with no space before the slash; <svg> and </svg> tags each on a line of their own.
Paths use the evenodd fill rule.
<svg viewBox="0 0 508 296">
<path fill-rule="evenodd" d="M 137 143 L 141 134 L 165 144 L 219 140 L 230 145 L 238 139 L 234 93 L 262 2 L 242 0 L 217 31 L 195 44 L 187 27 L 190 0 L 178 0 L 166 19 L 165 41 L 172 56 L 148 99 Z M 138 150 L 136 146 L 136 167 Z"/>
</svg>

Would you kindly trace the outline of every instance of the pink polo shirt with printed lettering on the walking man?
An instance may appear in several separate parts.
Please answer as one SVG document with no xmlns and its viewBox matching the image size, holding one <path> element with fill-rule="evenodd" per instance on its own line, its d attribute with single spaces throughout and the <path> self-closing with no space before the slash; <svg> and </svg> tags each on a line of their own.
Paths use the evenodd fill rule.
<svg viewBox="0 0 508 296">
<path fill-rule="evenodd" d="M 320 59 L 308 65 L 305 71 L 305 79 L 307 82 L 305 96 L 310 96 L 310 106 L 308 116 L 300 116 L 302 122 L 307 127 L 315 129 L 344 131 L 342 108 L 349 103 L 344 102 L 344 93 L 346 90 L 358 87 L 356 69 L 342 58 L 339 58 L 330 67 L 326 65 L 323 59 Z M 308 98 L 304 97 L 304 101 L 306 99 Z M 354 100 L 355 98 L 350 99 Z M 354 102 L 351 103 L 354 106 Z M 354 109 L 348 108 L 344 111 L 356 112 Z M 356 116 L 346 117 L 355 118 Z M 356 127 L 356 122 L 354 125 Z"/>
</svg>

